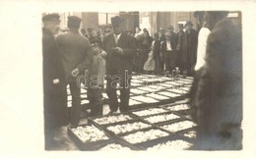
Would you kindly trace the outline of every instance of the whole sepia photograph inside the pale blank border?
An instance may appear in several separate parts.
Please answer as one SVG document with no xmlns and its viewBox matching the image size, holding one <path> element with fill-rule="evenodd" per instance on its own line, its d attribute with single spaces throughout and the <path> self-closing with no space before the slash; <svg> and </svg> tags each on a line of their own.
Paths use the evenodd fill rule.
<svg viewBox="0 0 256 159">
<path fill-rule="evenodd" d="M 241 150 L 241 19 L 43 13 L 45 149 Z"/>
</svg>

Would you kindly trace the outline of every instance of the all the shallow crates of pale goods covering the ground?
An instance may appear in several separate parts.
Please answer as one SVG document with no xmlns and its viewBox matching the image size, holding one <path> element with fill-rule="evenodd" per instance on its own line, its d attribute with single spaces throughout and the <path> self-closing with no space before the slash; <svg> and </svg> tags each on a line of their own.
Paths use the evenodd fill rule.
<svg viewBox="0 0 256 159">
<path fill-rule="evenodd" d="M 187 118 L 190 106 L 184 101 L 192 82 L 192 78 L 134 76 L 127 114 L 89 118 L 88 124 L 70 127 L 68 133 L 81 150 L 187 149 L 197 127 Z M 68 94 L 71 106 L 70 90 Z M 82 104 L 88 103 L 86 90 L 81 98 Z M 105 93 L 103 98 L 108 100 Z"/>
</svg>

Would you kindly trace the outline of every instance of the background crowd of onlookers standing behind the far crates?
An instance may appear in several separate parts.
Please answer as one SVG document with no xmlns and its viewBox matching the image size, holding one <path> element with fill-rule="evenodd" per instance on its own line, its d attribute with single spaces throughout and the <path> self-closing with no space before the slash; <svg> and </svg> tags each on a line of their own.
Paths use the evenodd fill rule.
<svg viewBox="0 0 256 159">
<path fill-rule="evenodd" d="M 198 33 L 188 21 L 185 26 L 178 24 L 178 32 L 174 27 L 166 29 L 160 27 L 153 36 L 147 28 L 136 27 L 135 31 L 125 30 L 134 36 L 136 54 L 133 58 L 132 71 L 140 74 L 171 75 L 173 70 L 180 70 L 180 74 L 192 76 L 196 63 L 196 48 Z M 81 28 L 81 33 L 92 40 L 98 38 L 101 43 L 105 36 L 112 32 L 105 29 Z"/>
</svg>

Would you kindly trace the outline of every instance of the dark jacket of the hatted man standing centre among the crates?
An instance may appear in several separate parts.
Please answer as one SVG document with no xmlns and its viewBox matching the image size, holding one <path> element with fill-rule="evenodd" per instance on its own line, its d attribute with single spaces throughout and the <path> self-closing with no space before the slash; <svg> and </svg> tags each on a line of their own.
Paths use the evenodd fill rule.
<svg viewBox="0 0 256 159">
<path fill-rule="evenodd" d="M 136 41 L 131 35 L 122 32 L 117 44 L 114 41 L 113 33 L 105 36 L 103 40 L 103 50 L 106 56 L 106 73 L 109 69 L 117 68 L 120 70 L 131 70 L 133 57 L 136 54 Z M 112 47 L 120 47 L 123 49 L 123 55 L 117 54 Z"/>
</svg>

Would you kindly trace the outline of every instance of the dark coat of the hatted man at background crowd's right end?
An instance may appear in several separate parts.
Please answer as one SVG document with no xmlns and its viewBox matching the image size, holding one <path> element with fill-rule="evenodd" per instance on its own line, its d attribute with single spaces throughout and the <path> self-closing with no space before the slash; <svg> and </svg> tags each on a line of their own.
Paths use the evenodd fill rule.
<svg viewBox="0 0 256 159">
<path fill-rule="evenodd" d="M 181 48 L 181 60 L 183 63 L 195 65 L 197 59 L 197 39 L 198 32 L 195 29 L 188 30 L 184 33 Z"/>
</svg>

